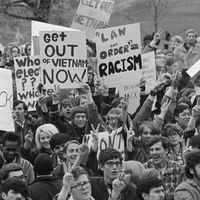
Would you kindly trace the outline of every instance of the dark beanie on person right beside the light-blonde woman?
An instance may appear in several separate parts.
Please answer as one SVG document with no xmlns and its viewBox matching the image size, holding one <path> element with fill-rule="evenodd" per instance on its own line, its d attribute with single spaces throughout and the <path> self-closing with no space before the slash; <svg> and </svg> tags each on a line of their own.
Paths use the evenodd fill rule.
<svg viewBox="0 0 200 200">
<path fill-rule="evenodd" d="M 53 150 L 56 145 L 61 145 L 70 140 L 70 137 L 66 133 L 56 133 L 49 141 L 51 149 Z"/>
</svg>

